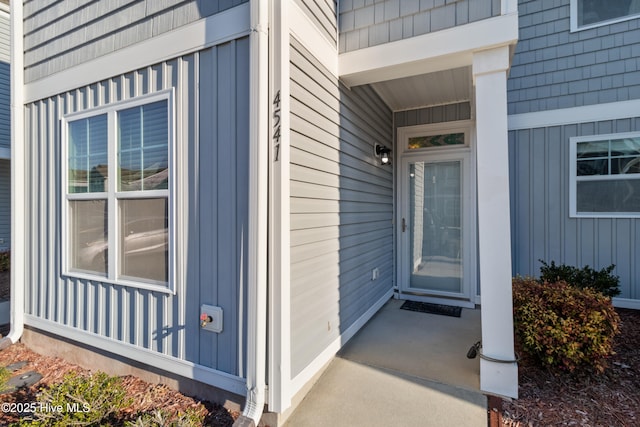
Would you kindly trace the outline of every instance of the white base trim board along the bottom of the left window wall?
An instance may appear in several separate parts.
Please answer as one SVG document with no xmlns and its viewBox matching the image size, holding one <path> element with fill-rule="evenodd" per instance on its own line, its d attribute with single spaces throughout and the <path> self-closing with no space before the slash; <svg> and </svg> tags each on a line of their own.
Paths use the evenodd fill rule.
<svg viewBox="0 0 640 427">
<path fill-rule="evenodd" d="M 146 348 L 137 347 L 122 341 L 106 338 L 70 326 L 64 326 L 29 314 L 25 314 L 24 317 L 25 324 L 36 329 L 77 341 L 84 345 L 106 350 L 127 359 L 180 375 L 184 378 L 194 379 L 205 384 L 230 391 L 239 396 L 244 396 L 246 393 L 245 380 L 227 372 L 218 371 L 217 369 L 198 365 L 193 362 L 151 351 Z"/>
</svg>

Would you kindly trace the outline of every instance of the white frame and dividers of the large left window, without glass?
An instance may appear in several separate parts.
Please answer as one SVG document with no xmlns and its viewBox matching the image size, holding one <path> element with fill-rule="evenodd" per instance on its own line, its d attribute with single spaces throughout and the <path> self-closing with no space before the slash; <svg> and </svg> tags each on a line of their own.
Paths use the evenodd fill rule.
<svg viewBox="0 0 640 427">
<path fill-rule="evenodd" d="M 108 105 L 91 108 L 88 110 L 66 114 L 61 119 L 61 136 L 62 136 L 62 159 L 61 159 L 61 185 L 63 186 L 62 194 L 62 275 L 74 277 L 78 279 L 92 280 L 101 283 L 111 283 L 122 286 L 130 286 L 153 291 L 175 293 L 176 289 L 176 132 L 175 132 L 175 106 L 174 106 L 174 89 L 154 92 L 152 94 L 142 95 L 128 100 L 114 102 Z M 158 101 L 167 102 L 168 115 L 168 167 L 169 182 L 167 190 L 147 190 L 144 191 L 144 198 L 160 198 L 167 197 L 168 201 L 168 277 L 167 282 L 155 282 L 151 280 L 129 277 L 118 277 L 119 270 L 119 251 L 118 251 L 118 203 L 117 200 L 126 198 L 140 198 L 139 192 L 116 191 L 117 186 L 117 156 L 118 156 L 118 112 L 133 107 L 139 107 Z M 70 193 L 69 192 L 69 123 L 87 119 L 99 115 L 107 115 L 107 144 L 108 144 L 108 191 L 103 193 Z M 117 193 L 117 195 L 116 195 Z M 135 194 L 133 194 L 135 193 Z M 98 197 L 96 197 L 98 196 Z M 74 200 L 95 200 L 96 198 L 105 199 L 108 206 L 108 271 L 107 275 L 92 274 L 88 271 L 79 271 L 71 268 L 70 253 L 70 236 L 71 220 L 70 202 Z"/>
</svg>

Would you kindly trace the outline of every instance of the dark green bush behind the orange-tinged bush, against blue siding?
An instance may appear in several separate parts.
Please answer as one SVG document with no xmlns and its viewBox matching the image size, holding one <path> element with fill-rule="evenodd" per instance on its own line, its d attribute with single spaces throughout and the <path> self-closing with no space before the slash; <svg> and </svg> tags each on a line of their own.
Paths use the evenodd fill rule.
<svg viewBox="0 0 640 427">
<path fill-rule="evenodd" d="M 616 268 L 615 264 L 596 271 L 588 265 L 577 268 L 566 264 L 556 265 L 553 261 L 551 261 L 551 265 L 543 260 L 539 261 L 542 263 L 542 267 L 540 267 L 541 282 L 564 281 L 580 289 L 595 289 L 608 297 L 620 294 L 620 278 L 611 274 Z"/>
</svg>

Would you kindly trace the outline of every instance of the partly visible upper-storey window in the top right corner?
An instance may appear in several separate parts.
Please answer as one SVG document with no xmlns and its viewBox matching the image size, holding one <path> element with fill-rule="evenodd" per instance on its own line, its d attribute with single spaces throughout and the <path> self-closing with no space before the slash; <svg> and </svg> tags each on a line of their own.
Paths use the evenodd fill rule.
<svg viewBox="0 0 640 427">
<path fill-rule="evenodd" d="M 571 30 L 610 24 L 640 15 L 639 0 L 571 0 Z"/>
</svg>

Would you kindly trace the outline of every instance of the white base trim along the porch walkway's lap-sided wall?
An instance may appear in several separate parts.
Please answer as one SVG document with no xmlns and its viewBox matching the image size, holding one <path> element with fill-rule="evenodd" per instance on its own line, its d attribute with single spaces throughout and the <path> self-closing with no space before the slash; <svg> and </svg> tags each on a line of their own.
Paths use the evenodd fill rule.
<svg viewBox="0 0 640 427">
<path fill-rule="evenodd" d="M 313 361 L 307 365 L 298 375 L 291 380 L 291 392 L 295 395 L 304 385 L 309 382 L 314 375 L 326 365 L 333 356 L 362 328 L 384 306 L 391 297 L 393 297 L 393 289 L 389 289 L 382 298 L 380 298 L 369 310 L 358 318 L 346 331 L 329 344 L 322 353 L 320 353 Z"/>
</svg>

